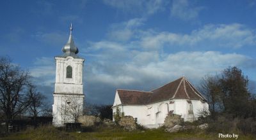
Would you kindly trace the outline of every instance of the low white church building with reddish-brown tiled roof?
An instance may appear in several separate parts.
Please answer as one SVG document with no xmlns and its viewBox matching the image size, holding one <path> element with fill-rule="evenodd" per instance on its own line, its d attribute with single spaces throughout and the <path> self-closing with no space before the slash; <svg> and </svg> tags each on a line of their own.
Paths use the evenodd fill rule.
<svg viewBox="0 0 256 140">
<path fill-rule="evenodd" d="M 119 108 L 125 116 L 133 116 L 138 124 L 157 128 L 163 125 L 168 113 L 181 115 L 184 121 L 197 119 L 200 111 L 209 109 L 206 101 L 183 76 L 150 92 L 118 89 L 112 109 L 113 115 Z"/>
</svg>

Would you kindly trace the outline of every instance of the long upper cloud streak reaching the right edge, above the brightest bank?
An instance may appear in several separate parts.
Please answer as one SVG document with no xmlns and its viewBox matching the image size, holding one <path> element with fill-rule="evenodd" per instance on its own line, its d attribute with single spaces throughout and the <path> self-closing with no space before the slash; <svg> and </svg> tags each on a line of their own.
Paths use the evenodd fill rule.
<svg viewBox="0 0 256 140">
<path fill-rule="evenodd" d="M 148 36 L 141 36 L 140 44 L 148 49 L 157 49 L 164 45 L 170 47 L 240 48 L 247 45 L 256 45 L 256 32 L 241 24 L 205 25 L 202 29 L 192 31 L 190 34 L 155 32 Z"/>
</svg>

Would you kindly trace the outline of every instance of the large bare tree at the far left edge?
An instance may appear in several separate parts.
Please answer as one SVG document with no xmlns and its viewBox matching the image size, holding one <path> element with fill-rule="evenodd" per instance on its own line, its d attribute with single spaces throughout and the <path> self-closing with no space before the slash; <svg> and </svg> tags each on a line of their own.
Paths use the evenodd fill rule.
<svg viewBox="0 0 256 140">
<path fill-rule="evenodd" d="M 29 105 L 29 99 L 23 90 L 28 81 L 28 71 L 12 64 L 9 57 L 0 57 L 0 109 L 6 125 Z"/>
</svg>

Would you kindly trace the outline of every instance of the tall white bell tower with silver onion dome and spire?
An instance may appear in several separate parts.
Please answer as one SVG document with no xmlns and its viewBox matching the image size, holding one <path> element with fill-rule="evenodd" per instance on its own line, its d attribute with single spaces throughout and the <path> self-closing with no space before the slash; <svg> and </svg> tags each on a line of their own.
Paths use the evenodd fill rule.
<svg viewBox="0 0 256 140">
<path fill-rule="evenodd" d="M 72 39 L 72 25 L 63 54 L 56 56 L 56 80 L 54 104 L 52 105 L 52 124 L 60 127 L 64 123 L 74 123 L 83 111 L 83 62 L 77 55 L 78 48 Z"/>
</svg>

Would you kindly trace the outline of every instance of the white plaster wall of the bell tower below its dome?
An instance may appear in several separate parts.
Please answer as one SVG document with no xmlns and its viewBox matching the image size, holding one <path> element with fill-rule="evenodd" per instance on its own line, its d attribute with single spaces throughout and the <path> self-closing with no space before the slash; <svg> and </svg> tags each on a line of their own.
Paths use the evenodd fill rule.
<svg viewBox="0 0 256 140">
<path fill-rule="evenodd" d="M 63 109 L 67 109 L 67 99 L 81 104 L 83 110 L 83 62 L 84 59 L 73 57 L 55 57 L 56 81 L 54 86 L 54 104 L 52 105 L 52 123 L 55 126 L 63 124 Z M 66 78 L 67 66 L 72 67 L 72 78 Z M 70 116 L 65 116 L 65 122 L 72 122 Z M 69 118 L 69 119 L 68 119 Z"/>
</svg>

